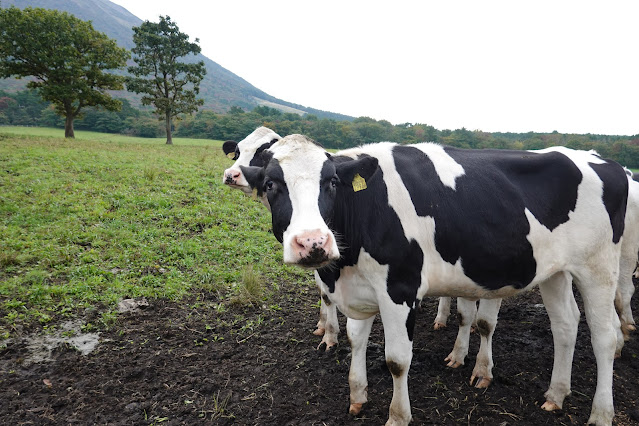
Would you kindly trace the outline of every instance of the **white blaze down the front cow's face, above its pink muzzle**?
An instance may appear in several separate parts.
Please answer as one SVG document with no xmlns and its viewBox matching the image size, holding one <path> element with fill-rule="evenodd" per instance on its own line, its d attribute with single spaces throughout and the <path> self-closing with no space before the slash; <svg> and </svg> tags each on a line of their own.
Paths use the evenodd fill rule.
<svg viewBox="0 0 639 426">
<path fill-rule="evenodd" d="M 335 236 L 328 229 L 319 211 L 320 178 L 327 160 L 323 149 L 299 135 L 290 135 L 276 142 L 271 148 L 273 158 L 279 162 L 288 186 L 293 214 L 283 235 L 284 262 L 297 263 L 299 255 L 291 250 L 293 238 L 304 232 L 319 231 L 330 236 L 328 256 L 338 259 L 339 249 Z M 311 149 L 309 149 L 311 148 Z M 304 161 L 299 161 L 303 158 Z"/>
</svg>

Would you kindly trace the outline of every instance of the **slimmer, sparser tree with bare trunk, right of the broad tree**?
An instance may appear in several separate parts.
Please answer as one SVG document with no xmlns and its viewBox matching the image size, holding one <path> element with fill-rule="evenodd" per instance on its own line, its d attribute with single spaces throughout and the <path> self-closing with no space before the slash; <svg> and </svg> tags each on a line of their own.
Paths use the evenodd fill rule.
<svg viewBox="0 0 639 426">
<path fill-rule="evenodd" d="M 155 107 L 155 113 L 166 125 L 166 143 L 172 144 L 173 118 L 195 112 L 204 104 L 204 100 L 195 98 L 206 74 L 204 62 L 177 60 L 200 53 L 199 40 L 189 42 L 189 36 L 181 33 L 168 16 L 160 16 L 159 23 L 145 21 L 133 27 L 133 32 L 133 60 L 137 66 L 129 67 L 134 77 L 127 78 L 127 90 L 144 93 L 142 104 Z"/>
</svg>

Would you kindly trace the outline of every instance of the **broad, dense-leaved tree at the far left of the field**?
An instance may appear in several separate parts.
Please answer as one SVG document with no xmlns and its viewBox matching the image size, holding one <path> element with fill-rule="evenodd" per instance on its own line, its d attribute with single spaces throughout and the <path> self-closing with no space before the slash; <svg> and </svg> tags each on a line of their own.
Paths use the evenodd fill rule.
<svg viewBox="0 0 639 426">
<path fill-rule="evenodd" d="M 53 103 L 65 117 L 64 136 L 73 138 L 73 120 L 82 108 L 120 108 L 107 90 L 121 90 L 129 53 L 93 29 L 90 22 L 57 10 L 0 9 L 0 78 L 33 77 L 27 87 Z"/>
</svg>

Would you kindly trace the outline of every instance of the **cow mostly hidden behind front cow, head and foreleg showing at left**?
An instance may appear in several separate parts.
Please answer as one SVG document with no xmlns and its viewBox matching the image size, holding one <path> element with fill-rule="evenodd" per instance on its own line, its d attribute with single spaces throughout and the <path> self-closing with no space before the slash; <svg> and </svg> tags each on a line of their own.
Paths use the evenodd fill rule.
<svg viewBox="0 0 639 426">
<path fill-rule="evenodd" d="M 268 127 L 258 127 L 250 135 L 240 142 L 226 141 L 222 149 L 224 153 L 235 160 L 235 163 L 224 171 L 222 181 L 231 188 L 240 189 L 246 194 L 253 193 L 253 187 L 244 178 L 242 166 L 262 166 L 262 151 L 269 148 L 282 137 Z M 232 155 L 232 156 L 231 156 Z M 268 201 L 263 199 L 264 205 L 269 208 Z M 270 210 L 270 208 L 269 208 Z M 318 349 L 327 351 L 337 346 L 337 336 L 339 334 L 339 321 L 337 319 L 337 309 L 330 303 L 327 297 L 321 294 L 319 276 L 315 273 L 315 281 L 320 289 L 320 318 L 316 330 L 313 334 L 323 336 Z"/>
</svg>

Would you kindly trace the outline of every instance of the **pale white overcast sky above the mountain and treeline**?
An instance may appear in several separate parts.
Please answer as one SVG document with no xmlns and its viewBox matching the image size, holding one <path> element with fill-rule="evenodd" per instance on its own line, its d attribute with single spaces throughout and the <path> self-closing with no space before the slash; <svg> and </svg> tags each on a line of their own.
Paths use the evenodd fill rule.
<svg viewBox="0 0 639 426">
<path fill-rule="evenodd" d="M 112 0 L 276 98 L 439 130 L 639 134 L 636 0 Z"/>
</svg>

